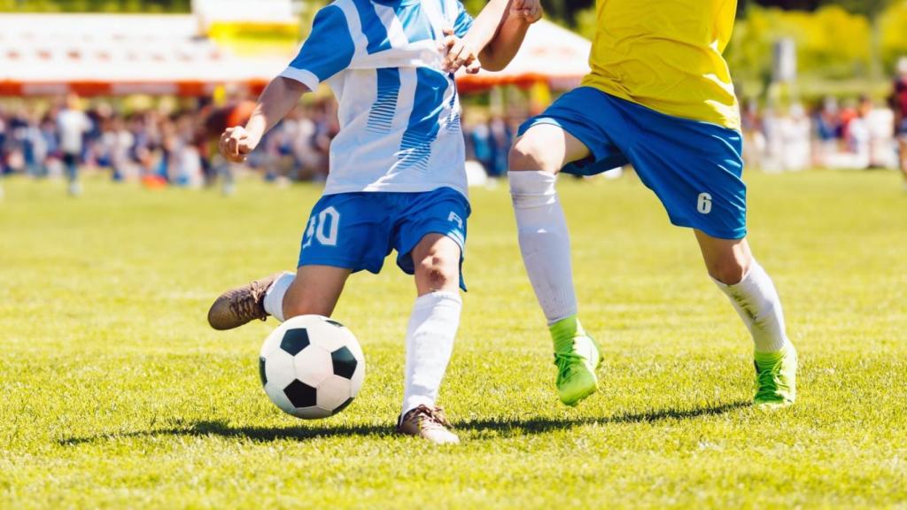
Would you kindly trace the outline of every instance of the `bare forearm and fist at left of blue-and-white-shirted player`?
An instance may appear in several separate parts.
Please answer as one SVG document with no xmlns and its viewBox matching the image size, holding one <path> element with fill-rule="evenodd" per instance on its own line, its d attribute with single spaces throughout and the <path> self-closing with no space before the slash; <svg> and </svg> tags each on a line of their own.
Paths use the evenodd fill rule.
<svg viewBox="0 0 907 510">
<path fill-rule="evenodd" d="M 246 161 L 246 156 L 258 147 L 265 133 L 287 116 L 307 92 L 308 87 L 296 80 L 283 76 L 271 80 L 258 98 L 246 126 L 227 128 L 220 135 L 220 154 L 230 162 Z"/>
</svg>

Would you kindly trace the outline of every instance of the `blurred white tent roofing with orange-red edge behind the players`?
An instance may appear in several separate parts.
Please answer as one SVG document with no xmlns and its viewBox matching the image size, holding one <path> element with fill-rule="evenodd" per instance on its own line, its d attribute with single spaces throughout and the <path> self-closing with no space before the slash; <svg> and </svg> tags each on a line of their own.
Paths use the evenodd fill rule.
<svg viewBox="0 0 907 510">
<path fill-rule="evenodd" d="M 295 34 L 295 23 L 278 25 Z M 278 51 L 235 52 L 216 36 L 200 35 L 212 31 L 217 25 L 200 15 L 0 15 L 0 95 L 194 96 L 225 83 L 257 92 L 297 48 L 291 35 Z M 590 46 L 542 20 L 502 72 L 461 74 L 457 81 L 464 92 L 539 82 L 568 88 L 589 73 Z"/>
</svg>

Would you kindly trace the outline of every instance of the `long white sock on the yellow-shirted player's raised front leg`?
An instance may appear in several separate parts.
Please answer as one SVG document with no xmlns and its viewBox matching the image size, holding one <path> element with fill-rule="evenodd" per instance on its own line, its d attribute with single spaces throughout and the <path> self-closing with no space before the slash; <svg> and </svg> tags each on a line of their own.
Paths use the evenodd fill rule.
<svg viewBox="0 0 907 510">
<path fill-rule="evenodd" d="M 570 232 L 548 172 L 510 172 L 522 261 L 535 297 L 551 325 L 576 314 Z"/>
</svg>

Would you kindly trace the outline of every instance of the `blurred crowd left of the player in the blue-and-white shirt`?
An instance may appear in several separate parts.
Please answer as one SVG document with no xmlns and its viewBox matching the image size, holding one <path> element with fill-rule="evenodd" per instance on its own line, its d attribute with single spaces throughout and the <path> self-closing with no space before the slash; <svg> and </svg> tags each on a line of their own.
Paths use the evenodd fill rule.
<svg viewBox="0 0 907 510">
<path fill-rule="evenodd" d="M 255 103 L 201 100 L 124 113 L 112 103 L 71 95 L 49 104 L 0 105 L 0 175 L 66 177 L 81 192 L 80 172 L 109 172 L 114 181 L 150 187 L 232 185 L 234 170 L 217 153 L 223 130 L 245 123 Z M 299 105 L 268 133 L 249 166 L 269 180 L 323 180 L 327 148 L 338 129 L 333 101 Z"/>
</svg>

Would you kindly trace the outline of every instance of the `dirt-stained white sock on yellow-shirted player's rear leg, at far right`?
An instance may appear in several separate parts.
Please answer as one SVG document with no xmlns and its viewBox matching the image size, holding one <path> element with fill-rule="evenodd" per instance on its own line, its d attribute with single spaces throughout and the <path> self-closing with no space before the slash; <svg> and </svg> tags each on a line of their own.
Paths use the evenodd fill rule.
<svg viewBox="0 0 907 510">
<path fill-rule="evenodd" d="M 725 285 L 718 280 L 715 282 L 731 299 L 734 309 L 753 335 L 757 351 L 777 352 L 785 347 L 788 340 L 781 299 L 775 284 L 759 262 L 753 260 L 753 265 L 739 283 Z"/>
</svg>

